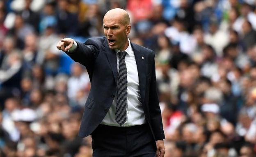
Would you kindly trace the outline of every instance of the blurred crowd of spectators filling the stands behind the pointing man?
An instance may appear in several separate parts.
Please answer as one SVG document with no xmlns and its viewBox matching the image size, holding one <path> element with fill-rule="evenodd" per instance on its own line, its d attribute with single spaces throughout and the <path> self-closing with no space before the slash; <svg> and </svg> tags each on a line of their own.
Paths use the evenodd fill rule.
<svg viewBox="0 0 256 157">
<path fill-rule="evenodd" d="M 0 0 L 0 157 L 92 156 L 88 73 L 56 45 L 116 7 L 155 52 L 165 157 L 256 157 L 256 0 Z"/>
</svg>

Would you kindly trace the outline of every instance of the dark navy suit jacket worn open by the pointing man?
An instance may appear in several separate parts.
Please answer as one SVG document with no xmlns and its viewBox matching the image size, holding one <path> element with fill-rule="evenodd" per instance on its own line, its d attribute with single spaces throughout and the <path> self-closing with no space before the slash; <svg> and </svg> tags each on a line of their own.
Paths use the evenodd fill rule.
<svg viewBox="0 0 256 157">
<path fill-rule="evenodd" d="M 131 43 L 139 75 L 139 89 L 146 122 L 155 140 L 164 139 L 159 107 L 154 52 Z M 102 122 L 117 93 L 117 55 L 105 37 L 77 42 L 77 48 L 67 53 L 75 62 L 84 65 L 89 73 L 91 90 L 85 103 L 79 135 L 86 137 Z"/>
</svg>

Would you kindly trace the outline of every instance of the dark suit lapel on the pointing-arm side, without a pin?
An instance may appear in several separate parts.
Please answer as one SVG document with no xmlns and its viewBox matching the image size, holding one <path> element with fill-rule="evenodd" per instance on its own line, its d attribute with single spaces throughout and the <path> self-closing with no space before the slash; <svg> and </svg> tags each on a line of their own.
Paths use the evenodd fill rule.
<svg viewBox="0 0 256 157">
<path fill-rule="evenodd" d="M 114 50 L 110 49 L 107 44 L 107 38 L 104 41 L 105 54 L 107 55 L 107 60 L 110 63 L 114 79 L 117 85 L 117 55 Z"/>
</svg>

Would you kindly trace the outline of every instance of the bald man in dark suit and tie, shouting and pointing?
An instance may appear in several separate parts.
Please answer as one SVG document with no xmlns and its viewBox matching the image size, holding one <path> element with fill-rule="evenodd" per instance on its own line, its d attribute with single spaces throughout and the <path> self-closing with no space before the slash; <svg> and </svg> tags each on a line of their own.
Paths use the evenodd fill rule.
<svg viewBox="0 0 256 157">
<path fill-rule="evenodd" d="M 79 135 L 91 135 L 94 157 L 163 157 L 154 53 L 130 42 L 125 10 L 108 11 L 103 27 L 106 37 L 57 44 L 86 66 L 91 81 Z"/>
</svg>

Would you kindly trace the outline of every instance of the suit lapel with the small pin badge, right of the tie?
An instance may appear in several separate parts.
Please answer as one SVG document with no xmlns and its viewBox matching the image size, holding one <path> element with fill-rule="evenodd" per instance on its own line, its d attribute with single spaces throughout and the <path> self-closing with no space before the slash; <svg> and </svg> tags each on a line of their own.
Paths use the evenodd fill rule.
<svg viewBox="0 0 256 157">
<path fill-rule="evenodd" d="M 140 51 L 139 47 L 131 43 L 139 75 L 139 90 L 141 95 L 142 104 L 144 104 L 145 98 L 145 85 L 146 85 L 146 58 L 143 51 Z"/>
</svg>

